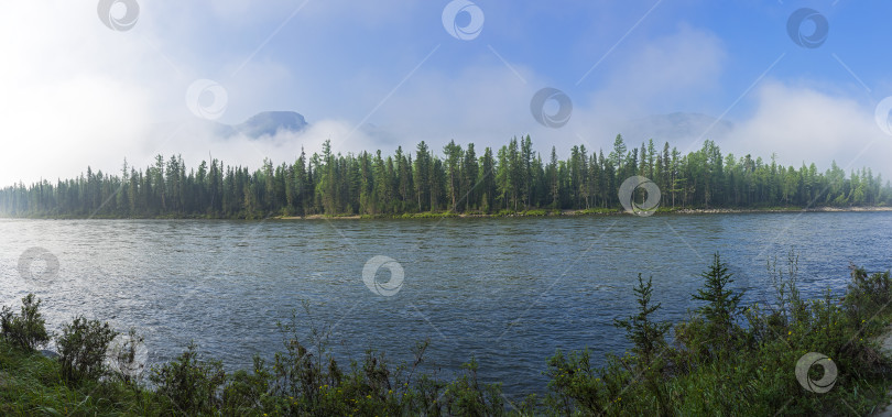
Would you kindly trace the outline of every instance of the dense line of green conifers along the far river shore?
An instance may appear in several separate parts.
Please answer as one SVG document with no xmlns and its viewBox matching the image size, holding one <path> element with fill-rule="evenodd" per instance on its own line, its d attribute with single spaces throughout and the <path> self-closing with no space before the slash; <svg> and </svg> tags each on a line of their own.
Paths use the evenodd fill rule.
<svg viewBox="0 0 892 417">
<path fill-rule="evenodd" d="M 331 152 L 263 167 L 224 165 L 216 158 L 188 168 L 182 156 L 162 155 L 144 169 L 128 165 L 120 175 L 94 172 L 0 189 L 0 215 L 11 217 L 211 217 L 369 215 L 426 211 L 491 213 L 530 209 L 620 208 L 618 189 L 633 175 L 651 178 L 665 208 L 765 208 L 777 206 L 878 206 L 892 202 L 892 187 L 869 168 L 847 177 L 836 163 L 824 173 L 815 164 L 798 169 L 750 155 L 722 156 L 705 141 L 682 155 L 653 140 L 628 150 L 621 135 L 613 149 L 589 153 L 573 146 L 558 160 L 533 151 L 527 135 L 478 156 L 449 142 L 443 156 L 426 143 L 414 155 L 398 147 L 390 156 Z"/>
</svg>

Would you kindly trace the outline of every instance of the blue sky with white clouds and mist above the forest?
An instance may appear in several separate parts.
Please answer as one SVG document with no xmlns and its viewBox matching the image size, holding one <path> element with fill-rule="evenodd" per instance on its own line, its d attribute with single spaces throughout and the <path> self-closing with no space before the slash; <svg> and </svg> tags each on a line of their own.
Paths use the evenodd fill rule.
<svg viewBox="0 0 892 417">
<path fill-rule="evenodd" d="M 156 154 L 259 167 L 325 140 L 480 152 L 530 134 L 543 154 L 607 152 L 675 112 L 716 120 L 674 140 L 682 152 L 709 139 L 889 178 L 889 15 L 881 0 L 6 1 L 0 186 Z M 253 141 L 193 129 L 269 110 L 311 125 Z"/>
</svg>

